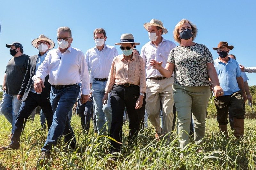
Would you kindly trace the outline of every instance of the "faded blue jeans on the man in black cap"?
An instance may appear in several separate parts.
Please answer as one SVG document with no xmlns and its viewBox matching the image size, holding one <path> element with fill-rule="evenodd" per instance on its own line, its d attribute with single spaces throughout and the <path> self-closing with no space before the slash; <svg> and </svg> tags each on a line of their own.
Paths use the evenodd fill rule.
<svg viewBox="0 0 256 170">
<path fill-rule="evenodd" d="M 20 110 L 20 101 L 17 99 L 17 95 L 7 94 L 3 92 L 3 99 L 0 105 L 0 110 L 2 114 L 6 117 L 8 122 L 12 124 L 12 131 L 14 132 L 14 124 Z"/>
</svg>

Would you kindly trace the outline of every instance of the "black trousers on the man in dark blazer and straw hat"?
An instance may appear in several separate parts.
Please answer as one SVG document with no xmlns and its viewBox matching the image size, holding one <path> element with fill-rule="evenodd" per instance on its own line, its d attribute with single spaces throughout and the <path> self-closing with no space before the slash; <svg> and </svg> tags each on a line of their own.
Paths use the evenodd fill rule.
<svg viewBox="0 0 256 170">
<path fill-rule="evenodd" d="M 50 126 L 52 125 L 53 119 L 51 103 L 50 101 L 42 101 L 41 94 L 36 94 L 30 91 L 26 100 L 21 103 L 18 117 L 14 125 L 14 132 L 11 138 L 11 144 L 20 146 L 21 133 L 25 127 L 28 117 L 37 106 L 40 106 L 42 111 L 44 112 L 47 121 L 47 128 L 49 130 Z"/>
</svg>

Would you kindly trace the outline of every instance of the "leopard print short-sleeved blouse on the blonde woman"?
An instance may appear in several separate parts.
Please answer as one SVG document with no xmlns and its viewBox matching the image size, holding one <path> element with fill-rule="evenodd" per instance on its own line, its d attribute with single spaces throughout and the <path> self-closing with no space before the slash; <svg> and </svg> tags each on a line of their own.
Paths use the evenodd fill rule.
<svg viewBox="0 0 256 170">
<path fill-rule="evenodd" d="M 177 46 L 171 50 L 167 62 L 175 64 L 174 84 L 189 87 L 210 85 L 206 63 L 214 62 L 205 45 Z"/>
</svg>

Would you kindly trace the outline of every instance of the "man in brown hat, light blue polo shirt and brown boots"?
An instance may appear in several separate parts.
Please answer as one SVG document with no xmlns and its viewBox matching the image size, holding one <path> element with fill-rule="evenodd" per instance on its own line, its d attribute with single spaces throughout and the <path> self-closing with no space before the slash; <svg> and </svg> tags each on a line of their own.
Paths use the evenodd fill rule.
<svg viewBox="0 0 256 170">
<path fill-rule="evenodd" d="M 214 98 L 217 109 L 217 122 L 219 123 L 220 133 L 224 133 L 228 137 L 228 110 L 233 115 L 234 120 L 234 136 L 242 137 L 244 135 L 244 118 L 245 111 L 243 104 L 247 99 L 244 90 L 244 81 L 236 60 L 228 57 L 228 53 L 234 47 L 229 46 L 227 42 L 220 42 L 217 48 L 219 57 L 214 60 L 220 86 L 224 94 Z"/>
</svg>

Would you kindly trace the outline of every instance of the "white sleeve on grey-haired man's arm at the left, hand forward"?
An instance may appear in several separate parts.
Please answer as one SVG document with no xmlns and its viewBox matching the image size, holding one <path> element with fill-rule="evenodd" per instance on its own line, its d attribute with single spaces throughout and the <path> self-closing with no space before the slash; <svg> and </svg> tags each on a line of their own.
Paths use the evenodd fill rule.
<svg viewBox="0 0 256 170">
<path fill-rule="evenodd" d="M 45 77 L 49 74 L 49 60 L 51 58 L 51 54 L 48 53 L 44 59 L 44 61 L 39 65 L 36 74 L 32 77 L 32 80 L 35 81 L 36 78 L 41 78 L 45 81 Z"/>
</svg>

